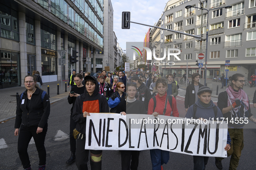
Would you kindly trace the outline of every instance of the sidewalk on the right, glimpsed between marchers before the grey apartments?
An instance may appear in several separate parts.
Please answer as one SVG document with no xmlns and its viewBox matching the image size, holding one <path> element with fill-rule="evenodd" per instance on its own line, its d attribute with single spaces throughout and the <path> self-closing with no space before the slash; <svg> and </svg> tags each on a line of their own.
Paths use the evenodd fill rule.
<svg viewBox="0 0 256 170">
<path fill-rule="evenodd" d="M 191 78 L 188 78 L 188 80 L 191 81 Z M 201 84 L 204 84 L 204 79 L 201 79 L 200 80 L 200 83 Z M 224 87 L 223 89 L 220 89 L 221 87 L 221 82 L 215 82 L 215 81 L 212 81 L 212 80 L 206 80 L 206 83 L 207 83 L 207 86 L 210 87 L 210 83 L 212 84 L 212 95 L 213 97 L 218 97 L 218 94 L 220 94 L 220 92 L 224 92 L 226 91 L 226 88 Z M 186 90 L 186 84 L 179 84 L 179 88 L 183 89 L 183 90 Z M 219 86 L 219 89 L 218 89 L 218 94 L 217 93 L 217 86 Z M 246 92 L 246 94 L 248 95 L 249 97 L 249 100 L 250 100 L 250 103 L 253 102 L 253 94 L 256 90 L 256 88 L 254 87 L 249 87 L 249 86 L 243 86 L 243 90 Z"/>
</svg>

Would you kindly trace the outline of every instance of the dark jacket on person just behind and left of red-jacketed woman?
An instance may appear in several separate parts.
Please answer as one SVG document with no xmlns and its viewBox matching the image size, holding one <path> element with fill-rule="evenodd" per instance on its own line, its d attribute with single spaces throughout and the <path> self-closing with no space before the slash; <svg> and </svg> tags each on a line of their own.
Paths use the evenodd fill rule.
<svg viewBox="0 0 256 170">
<path fill-rule="evenodd" d="M 144 83 L 140 85 L 137 89 L 137 93 L 135 98 L 144 103 L 146 110 L 149 107 L 149 100 L 151 99 L 151 92 L 148 87 L 145 86 Z"/>
</svg>

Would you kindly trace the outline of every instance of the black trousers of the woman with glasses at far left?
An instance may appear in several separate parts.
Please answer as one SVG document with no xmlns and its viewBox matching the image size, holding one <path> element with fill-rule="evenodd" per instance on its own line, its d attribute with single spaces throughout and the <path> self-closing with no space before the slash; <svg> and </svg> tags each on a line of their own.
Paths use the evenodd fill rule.
<svg viewBox="0 0 256 170">
<path fill-rule="evenodd" d="M 46 163 L 46 151 L 45 151 L 45 135 L 47 132 L 48 124 L 45 124 L 43 131 L 39 134 L 36 134 L 36 130 L 38 125 L 35 126 L 20 126 L 19 130 L 19 139 L 18 139 L 18 153 L 19 159 L 23 165 L 23 168 L 30 167 L 29 154 L 28 154 L 28 146 L 29 141 L 33 137 L 36 149 L 39 156 L 39 166 L 45 165 Z"/>
</svg>

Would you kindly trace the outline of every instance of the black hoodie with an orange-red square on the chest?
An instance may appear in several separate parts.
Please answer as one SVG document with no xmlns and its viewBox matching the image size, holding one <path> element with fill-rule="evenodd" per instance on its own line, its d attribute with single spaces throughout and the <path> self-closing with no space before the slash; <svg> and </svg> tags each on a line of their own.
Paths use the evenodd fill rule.
<svg viewBox="0 0 256 170">
<path fill-rule="evenodd" d="M 96 80 L 93 94 L 90 96 L 85 87 L 84 94 L 78 96 L 75 101 L 72 118 L 77 122 L 76 130 L 81 134 L 85 134 L 86 128 L 86 118 L 83 116 L 84 111 L 89 113 L 109 112 L 107 98 L 101 95 L 99 91 L 99 83 Z"/>
</svg>

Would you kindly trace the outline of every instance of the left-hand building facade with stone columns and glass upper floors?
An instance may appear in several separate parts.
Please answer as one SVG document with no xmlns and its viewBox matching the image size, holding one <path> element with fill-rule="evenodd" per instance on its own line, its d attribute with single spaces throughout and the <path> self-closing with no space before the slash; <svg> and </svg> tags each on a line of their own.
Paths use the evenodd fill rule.
<svg viewBox="0 0 256 170">
<path fill-rule="evenodd" d="M 91 70 L 86 58 L 103 48 L 103 0 L 1 1 L 0 20 L 0 88 L 23 86 L 34 70 L 43 83 L 67 80 L 71 48 L 77 73 Z M 66 50 L 62 61 L 58 50 Z"/>
</svg>

